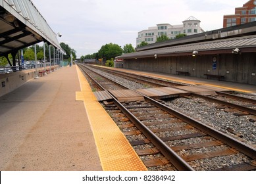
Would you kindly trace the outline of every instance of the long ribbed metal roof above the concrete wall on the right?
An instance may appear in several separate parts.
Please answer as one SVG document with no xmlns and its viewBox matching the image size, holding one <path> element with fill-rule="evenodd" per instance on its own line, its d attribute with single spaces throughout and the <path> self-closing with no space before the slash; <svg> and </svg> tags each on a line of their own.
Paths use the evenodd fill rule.
<svg viewBox="0 0 256 184">
<path fill-rule="evenodd" d="M 238 47 L 239 49 L 255 47 L 256 52 L 256 35 L 249 35 L 244 37 L 233 37 L 230 39 L 219 39 L 215 41 L 207 41 L 201 43 L 191 43 L 186 45 L 178 45 L 173 47 L 164 47 L 161 49 L 151 49 L 146 51 L 139 51 L 136 53 L 128 53 L 119 56 L 118 58 L 136 58 L 136 57 L 153 57 L 154 55 L 165 56 L 188 53 L 192 55 L 193 51 L 219 51 L 230 50 Z M 231 53 L 231 51 L 230 51 Z"/>
</svg>

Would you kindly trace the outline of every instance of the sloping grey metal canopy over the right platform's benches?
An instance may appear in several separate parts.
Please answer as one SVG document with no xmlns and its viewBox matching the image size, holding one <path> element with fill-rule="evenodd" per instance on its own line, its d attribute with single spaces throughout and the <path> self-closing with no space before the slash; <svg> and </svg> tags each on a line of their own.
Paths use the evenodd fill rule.
<svg viewBox="0 0 256 184">
<path fill-rule="evenodd" d="M 146 58 L 146 57 L 168 57 L 192 55 L 197 51 L 199 55 L 212 55 L 222 53 L 232 53 L 238 48 L 242 53 L 255 52 L 256 35 L 247 35 L 243 37 L 232 37 L 228 39 L 218 39 L 215 41 L 203 41 L 199 43 L 190 43 L 184 45 L 175 45 L 172 47 L 163 47 L 159 49 L 149 49 L 135 53 L 127 53 L 116 58 Z"/>
</svg>

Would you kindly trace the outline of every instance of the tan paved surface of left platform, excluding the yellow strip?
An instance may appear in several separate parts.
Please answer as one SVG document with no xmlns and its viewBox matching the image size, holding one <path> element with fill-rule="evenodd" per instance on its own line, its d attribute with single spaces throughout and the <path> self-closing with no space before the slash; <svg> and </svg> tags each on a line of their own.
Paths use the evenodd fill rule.
<svg viewBox="0 0 256 184">
<path fill-rule="evenodd" d="M 0 170 L 102 170 L 76 67 L 0 97 Z"/>
</svg>

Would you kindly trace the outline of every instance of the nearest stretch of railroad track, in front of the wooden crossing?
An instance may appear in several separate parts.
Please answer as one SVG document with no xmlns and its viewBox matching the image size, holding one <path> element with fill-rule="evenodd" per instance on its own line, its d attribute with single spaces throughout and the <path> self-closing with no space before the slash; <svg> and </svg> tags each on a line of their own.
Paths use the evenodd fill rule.
<svg viewBox="0 0 256 184">
<path fill-rule="evenodd" d="M 103 106 L 149 170 L 256 169 L 253 147 L 154 99 L 144 99 L 120 103 L 113 97 Z"/>
</svg>

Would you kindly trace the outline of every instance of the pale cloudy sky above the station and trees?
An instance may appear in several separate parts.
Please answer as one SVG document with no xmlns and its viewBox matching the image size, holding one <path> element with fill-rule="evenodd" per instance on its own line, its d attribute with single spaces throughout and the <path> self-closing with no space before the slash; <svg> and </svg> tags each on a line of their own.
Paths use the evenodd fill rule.
<svg viewBox="0 0 256 184">
<path fill-rule="evenodd" d="M 190 16 L 205 31 L 222 28 L 223 15 L 234 14 L 247 0 L 32 0 L 59 42 L 77 57 L 99 51 L 102 45 L 132 43 L 141 30 L 156 24 L 182 24 Z"/>
</svg>

